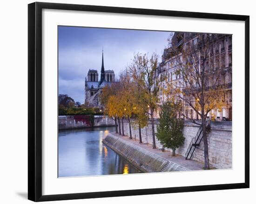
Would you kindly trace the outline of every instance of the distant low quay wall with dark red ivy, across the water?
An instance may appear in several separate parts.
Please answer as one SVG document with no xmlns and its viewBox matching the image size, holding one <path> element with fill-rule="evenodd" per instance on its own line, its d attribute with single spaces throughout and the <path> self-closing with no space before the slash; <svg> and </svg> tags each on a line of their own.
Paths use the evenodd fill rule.
<svg viewBox="0 0 256 204">
<path fill-rule="evenodd" d="M 114 126 L 115 121 L 107 116 L 71 115 L 58 117 L 59 130 L 85 127 Z"/>
</svg>

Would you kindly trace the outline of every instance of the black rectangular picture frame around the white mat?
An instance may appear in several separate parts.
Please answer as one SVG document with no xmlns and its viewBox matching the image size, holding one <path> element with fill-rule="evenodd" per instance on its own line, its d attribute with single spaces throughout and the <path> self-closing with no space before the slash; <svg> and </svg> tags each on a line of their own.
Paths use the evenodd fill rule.
<svg viewBox="0 0 256 204">
<path fill-rule="evenodd" d="M 245 175 L 244 183 L 183 186 L 125 191 L 84 192 L 42 195 L 42 9 L 128 13 L 155 16 L 189 17 L 245 22 Z M 103 7 L 35 2 L 28 5 L 28 199 L 53 201 L 96 197 L 116 197 L 189 191 L 249 188 L 249 16 L 197 13 L 141 8 Z"/>
</svg>

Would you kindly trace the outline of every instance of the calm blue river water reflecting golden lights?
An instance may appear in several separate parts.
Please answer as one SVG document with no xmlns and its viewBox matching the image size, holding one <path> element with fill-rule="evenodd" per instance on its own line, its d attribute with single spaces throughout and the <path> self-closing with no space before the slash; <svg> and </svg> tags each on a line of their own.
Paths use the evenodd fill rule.
<svg viewBox="0 0 256 204">
<path fill-rule="evenodd" d="M 102 143 L 114 127 L 59 131 L 58 176 L 138 173 L 127 160 Z"/>
</svg>

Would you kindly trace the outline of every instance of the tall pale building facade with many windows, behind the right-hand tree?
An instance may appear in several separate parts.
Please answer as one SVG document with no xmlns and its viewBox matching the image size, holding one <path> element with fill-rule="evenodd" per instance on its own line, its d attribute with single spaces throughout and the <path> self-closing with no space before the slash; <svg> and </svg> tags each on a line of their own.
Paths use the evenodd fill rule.
<svg viewBox="0 0 256 204">
<path fill-rule="evenodd" d="M 225 93 L 222 96 L 223 106 L 221 109 L 213 109 L 208 113 L 209 118 L 214 118 L 215 120 L 232 120 L 232 35 L 229 34 L 198 34 L 198 33 L 180 33 L 175 32 L 171 39 L 171 46 L 164 49 L 162 55 L 162 62 L 159 64 L 157 71 L 155 72 L 155 79 L 160 79 L 161 75 L 166 76 L 167 83 L 170 82 L 176 87 L 182 87 L 183 79 L 181 74 L 177 74 L 174 68 L 174 61 L 178 58 L 182 58 L 182 52 L 186 49 L 187 45 L 197 45 L 200 40 L 208 39 L 209 44 L 209 57 L 204 62 L 205 72 L 207 72 L 207 85 L 206 88 L 213 85 L 215 79 L 216 70 L 221 70 L 221 75 L 218 80 L 221 85 L 225 86 Z M 202 40 L 201 40 L 202 41 Z M 172 53 L 173 47 L 179 49 L 180 52 Z M 196 46 L 195 46 L 196 47 Z M 178 53 L 178 54 L 177 54 Z M 199 52 L 200 53 L 200 52 Z M 200 63 L 199 63 L 200 68 Z M 162 86 L 166 86 L 163 83 Z M 164 87 L 165 88 L 165 87 Z M 167 96 L 161 91 L 160 92 L 160 102 L 162 105 L 167 101 Z M 159 117 L 159 111 L 155 112 L 155 117 Z M 198 115 L 189 105 L 184 105 L 183 115 L 188 118 L 198 119 Z M 199 118 L 200 119 L 200 118 Z"/>
</svg>

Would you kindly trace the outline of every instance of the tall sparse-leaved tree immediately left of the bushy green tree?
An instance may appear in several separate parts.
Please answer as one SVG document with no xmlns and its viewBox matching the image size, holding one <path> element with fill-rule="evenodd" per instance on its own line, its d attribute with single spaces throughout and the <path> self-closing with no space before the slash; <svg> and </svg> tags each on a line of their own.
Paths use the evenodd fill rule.
<svg viewBox="0 0 256 204">
<path fill-rule="evenodd" d="M 153 149 L 155 145 L 154 112 L 159 101 L 159 84 L 161 79 L 155 79 L 154 73 L 157 69 L 157 55 L 155 53 L 148 59 L 147 54 L 135 54 L 132 64 L 129 66 L 132 78 L 138 86 L 141 100 L 147 104 L 147 114 L 151 118 Z"/>
</svg>

